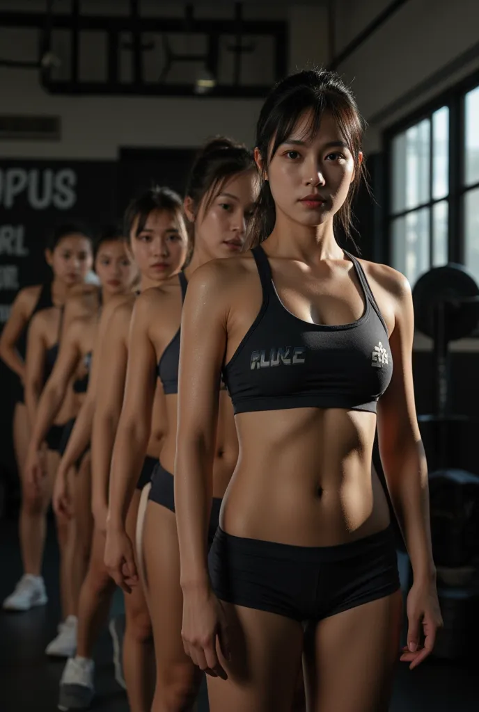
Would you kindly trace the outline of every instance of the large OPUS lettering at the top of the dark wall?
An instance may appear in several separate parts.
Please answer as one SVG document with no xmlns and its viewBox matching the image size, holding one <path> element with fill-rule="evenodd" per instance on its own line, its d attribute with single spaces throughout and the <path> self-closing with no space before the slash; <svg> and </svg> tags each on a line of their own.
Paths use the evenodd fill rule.
<svg viewBox="0 0 479 712">
<path fill-rule="evenodd" d="M 76 204 L 76 184 L 76 172 L 71 168 L 0 169 L 0 205 L 12 208 L 16 197 L 26 191 L 29 206 L 34 210 L 52 205 L 58 210 L 68 210 Z"/>
</svg>

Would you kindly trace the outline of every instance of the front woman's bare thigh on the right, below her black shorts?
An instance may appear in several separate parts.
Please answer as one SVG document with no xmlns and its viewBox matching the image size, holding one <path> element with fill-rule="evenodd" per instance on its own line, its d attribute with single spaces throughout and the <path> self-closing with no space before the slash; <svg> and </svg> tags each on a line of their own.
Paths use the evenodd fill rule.
<svg viewBox="0 0 479 712">
<path fill-rule="evenodd" d="M 401 612 L 397 591 L 319 622 L 307 644 L 311 712 L 388 711 Z"/>
</svg>

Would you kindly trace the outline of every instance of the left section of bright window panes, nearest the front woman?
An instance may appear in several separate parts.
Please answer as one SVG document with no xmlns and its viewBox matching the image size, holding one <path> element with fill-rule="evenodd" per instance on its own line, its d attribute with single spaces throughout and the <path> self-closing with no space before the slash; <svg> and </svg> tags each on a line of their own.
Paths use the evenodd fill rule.
<svg viewBox="0 0 479 712">
<path fill-rule="evenodd" d="M 392 263 L 411 284 L 448 261 L 448 157 L 447 106 L 393 138 Z"/>
</svg>

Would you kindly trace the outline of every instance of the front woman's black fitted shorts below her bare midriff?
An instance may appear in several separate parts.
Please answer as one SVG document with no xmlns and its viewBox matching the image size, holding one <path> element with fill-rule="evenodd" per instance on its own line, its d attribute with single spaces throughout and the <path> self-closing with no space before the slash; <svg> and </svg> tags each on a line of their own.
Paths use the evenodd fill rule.
<svg viewBox="0 0 479 712">
<path fill-rule="evenodd" d="M 218 528 L 208 566 L 220 600 L 299 622 L 317 622 L 399 589 L 391 526 L 326 547 L 241 538 Z"/>
</svg>

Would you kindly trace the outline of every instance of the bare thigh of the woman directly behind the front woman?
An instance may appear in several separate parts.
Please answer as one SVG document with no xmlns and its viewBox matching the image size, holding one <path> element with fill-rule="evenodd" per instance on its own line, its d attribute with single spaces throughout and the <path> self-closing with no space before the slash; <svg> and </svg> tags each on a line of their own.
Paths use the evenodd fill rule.
<svg viewBox="0 0 479 712">
<path fill-rule="evenodd" d="M 158 676 L 177 674 L 195 686 L 200 669 L 185 653 L 181 637 L 183 596 L 175 514 L 148 501 L 143 543 Z"/>
</svg>

